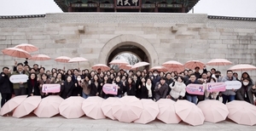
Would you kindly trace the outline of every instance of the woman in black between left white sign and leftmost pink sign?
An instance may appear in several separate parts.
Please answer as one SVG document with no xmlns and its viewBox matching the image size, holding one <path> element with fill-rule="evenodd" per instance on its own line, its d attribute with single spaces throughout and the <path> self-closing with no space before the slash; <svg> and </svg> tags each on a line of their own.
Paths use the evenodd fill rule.
<svg viewBox="0 0 256 131">
<path fill-rule="evenodd" d="M 36 73 L 31 73 L 27 80 L 27 93 L 28 96 L 41 95 L 38 83 L 38 75 Z"/>
</svg>

